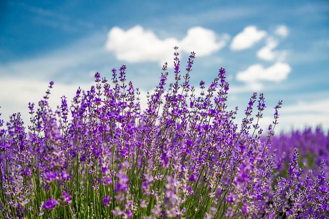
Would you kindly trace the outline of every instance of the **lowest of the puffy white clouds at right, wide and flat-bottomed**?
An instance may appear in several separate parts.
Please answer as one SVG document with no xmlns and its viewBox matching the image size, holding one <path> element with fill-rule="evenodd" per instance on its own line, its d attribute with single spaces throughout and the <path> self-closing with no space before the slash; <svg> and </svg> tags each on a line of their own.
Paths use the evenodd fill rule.
<svg viewBox="0 0 329 219">
<path fill-rule="evenodd" d="M 261 81 L 283 81 L 290 71 L 290 66 L 283 62 L 277 62 L 268 68 L 261 64 L 254 64 L 244 71 L 237 72 L 236 79 L 259 86 Z"/>
</svg>

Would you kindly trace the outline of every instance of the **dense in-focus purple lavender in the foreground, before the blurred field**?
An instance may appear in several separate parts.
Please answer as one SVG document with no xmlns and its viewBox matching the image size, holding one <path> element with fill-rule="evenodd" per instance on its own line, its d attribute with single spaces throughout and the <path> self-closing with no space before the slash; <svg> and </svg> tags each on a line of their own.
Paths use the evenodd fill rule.
<svg viewBox="0 0 329 219">
<path fill-rule="evenodd" d="M 165 63 L 145 111 L 123 65 L 111 82 L 96 72 L 70 106 L 64 96 L 57 109 L 48 105 L 50 82 L 38 107 L 28 105 L 27 129 L 19 113 L 5 128 L 1 120 L 1 217 L 327 218 L 324 160 L 317 174 L 304 173 L 296 150 L 286 178 L 273 171 L 282 101 L 262 140 L 263 94 L 252 94 L 236 124 L 225 69 L 208 88 L 201 81 L 198 95 L 189 83 L 195 53 L 181 75 L 174 49 L 175 81 L 165 88 Z"/>
</svg>

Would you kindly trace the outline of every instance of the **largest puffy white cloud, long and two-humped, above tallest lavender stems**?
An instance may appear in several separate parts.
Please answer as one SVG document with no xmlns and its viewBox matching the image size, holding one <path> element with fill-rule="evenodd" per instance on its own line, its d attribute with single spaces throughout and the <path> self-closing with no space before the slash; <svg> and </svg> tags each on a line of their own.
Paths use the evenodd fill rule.
<svg viewBox="0 0 329 219">
<path fill-rule="evenodd" d="M 222 49 L 229 36 L 217 36 L 212 30 L 203 27 L 192 27 L 187 31 L 184 39 L 159 39 L 158 36 L 137 25 L 131 29 L 123 30 L 113 27 L 109 30 L 105 48 L 113 51 L 117 59 L 131 63 L 153 61 L 162 65 L 171 64 L 173 47 L 178 46 L 179 51 L 189 53 L 195 51 L 197 56 L 207 56 Z"/>
</svg>

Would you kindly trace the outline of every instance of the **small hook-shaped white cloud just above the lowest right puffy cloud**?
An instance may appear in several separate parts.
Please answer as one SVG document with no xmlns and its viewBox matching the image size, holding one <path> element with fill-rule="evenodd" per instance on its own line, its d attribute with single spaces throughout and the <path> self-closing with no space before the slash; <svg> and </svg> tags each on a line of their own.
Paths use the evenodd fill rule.
<svg viewBox="0 0 329 219">
<path fill-rule="evenodd" d="M 275 49 L 278 45 L 279 42 L 277 40 L 271 37 L 268 38 L 266 45 L 260 50 L 258 50 L 257 57 L 265 61 L 284 61 L 287 57 L 288 52 L 286 50 L 273 51 L 273 49 Z"/>
</svg>

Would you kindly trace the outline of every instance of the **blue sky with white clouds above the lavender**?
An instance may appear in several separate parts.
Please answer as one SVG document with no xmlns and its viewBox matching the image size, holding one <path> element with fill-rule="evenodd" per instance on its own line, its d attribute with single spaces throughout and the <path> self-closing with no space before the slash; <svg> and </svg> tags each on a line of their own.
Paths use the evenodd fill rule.
<svg viewBox="0 0 329 219">
<path fill-rule="evenodd" d="M 107 2 L 107 3 L 105 3 Z M 280 99 L 280 130 L 329 128 L 329 3 L 327 1 L 1 1 L 0 113 L 28 118 L 27 103 L 54 81 L 51 104 L 88 89 L 93 75 L 127 78 L 143 94 L 161 65 L 196 52 L 191 83 L 209 84 L 227 69 L 229 104 L 240 117 L 253 91 L 263 92 L 271 122 Z M 171 78 L 173 70 L 170 69 Z"/>
</svg>

